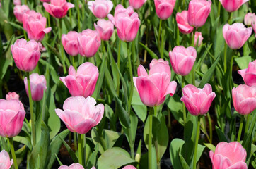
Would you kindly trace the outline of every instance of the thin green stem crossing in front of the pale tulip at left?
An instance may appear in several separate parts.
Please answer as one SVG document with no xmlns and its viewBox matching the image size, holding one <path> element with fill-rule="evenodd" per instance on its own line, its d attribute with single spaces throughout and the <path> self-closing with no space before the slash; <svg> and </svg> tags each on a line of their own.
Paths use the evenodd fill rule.
<svg viewBox="0 0 256 169">
<path fill-rule="evenodd" d="M 27 78 L 28 78 L 28 99 L 29 99 L 29 106 L 30 106 L 30 118 L 31 118 L 31 128 L 32 128 L 32 142 L 33 146 L 35 146 L 35 118 L 34 118 L 34 112 L 33 112 L 33 100 L 31 95 L 31 87 L 30 87 L 30 75 L 29 72 L 27 72 Z"/>
</svg>

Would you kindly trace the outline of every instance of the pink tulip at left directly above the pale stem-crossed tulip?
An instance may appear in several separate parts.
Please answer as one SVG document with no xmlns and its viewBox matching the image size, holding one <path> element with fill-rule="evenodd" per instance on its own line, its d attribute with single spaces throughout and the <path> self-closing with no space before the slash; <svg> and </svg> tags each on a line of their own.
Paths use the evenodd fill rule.
<svg viewBox="0 0 256 169">
<path fill-rule="evenodd" d="M 18 39 L 11 45 L 11 53 L 18 69 L 30 72 L 35 69 L 41 56 L 37 42 Z"/>
</svg>

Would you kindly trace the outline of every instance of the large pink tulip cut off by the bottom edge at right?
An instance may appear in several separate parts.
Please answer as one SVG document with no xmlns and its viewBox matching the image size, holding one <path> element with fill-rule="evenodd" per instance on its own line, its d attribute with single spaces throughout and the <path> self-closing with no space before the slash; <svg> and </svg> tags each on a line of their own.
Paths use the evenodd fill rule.
<svg viewBox="0 0 256 169">
<path fill-rule="evenodd" d="M 210 158 L 213 169 L 247 169 L 246 150 L 239 142 L 220 142 Z"/>
</svg>

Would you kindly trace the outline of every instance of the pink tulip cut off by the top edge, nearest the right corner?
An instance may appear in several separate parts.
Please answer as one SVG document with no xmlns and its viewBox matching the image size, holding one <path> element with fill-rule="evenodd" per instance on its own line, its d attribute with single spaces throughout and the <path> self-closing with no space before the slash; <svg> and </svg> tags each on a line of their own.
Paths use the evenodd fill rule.
<svg viewBox="0 0 256 169">
<path fill-rule="evenodd" d="M 249 0 L 219 0 L 223 8 L 228 12 L 234 12 Z"/>
</svg>

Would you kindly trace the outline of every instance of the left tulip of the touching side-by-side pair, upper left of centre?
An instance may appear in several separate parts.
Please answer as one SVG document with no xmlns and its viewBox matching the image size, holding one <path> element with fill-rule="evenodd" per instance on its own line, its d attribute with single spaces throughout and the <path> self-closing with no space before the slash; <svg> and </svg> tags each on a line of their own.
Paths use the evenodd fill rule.
<svg viewBox="0 0 256 169">
<path fill-rule="evenodd" d="M 78 55 L 78 32 L 70 31 L 68 34 L 62 35 L 62 44 L 66 51 L 71 56 Z"/>
</svg>

